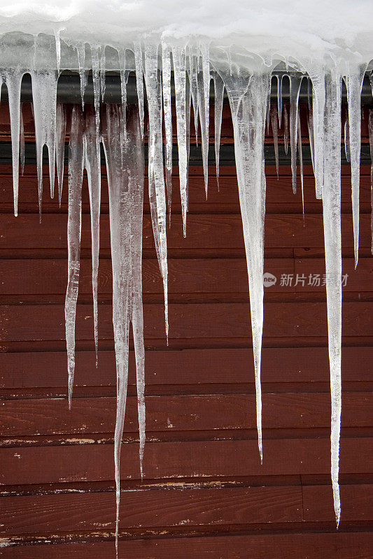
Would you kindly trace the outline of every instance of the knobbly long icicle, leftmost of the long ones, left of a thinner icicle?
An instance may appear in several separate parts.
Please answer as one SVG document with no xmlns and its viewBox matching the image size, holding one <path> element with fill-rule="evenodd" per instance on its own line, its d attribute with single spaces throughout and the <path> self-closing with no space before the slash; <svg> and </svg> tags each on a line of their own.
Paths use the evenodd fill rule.
<svg viewBox="0 0 373 559">
<path fill-rule="evenodd" d="M 75 321 L 80 270 L 83 157 L 83 113 L 78 106 L 73 106 L 69 143 L 69 216 L 67 219 L 68 282 L 65 300 L 69 408 L 71 408 L 73 376 L 75 371 Z"/>
</svg>

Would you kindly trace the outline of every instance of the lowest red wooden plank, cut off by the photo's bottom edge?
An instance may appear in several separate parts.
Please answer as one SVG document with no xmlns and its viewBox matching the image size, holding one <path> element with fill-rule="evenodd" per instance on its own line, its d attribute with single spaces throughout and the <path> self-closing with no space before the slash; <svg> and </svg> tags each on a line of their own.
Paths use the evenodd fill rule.
<svg viewBox="0 0 373 559">
<path fill-rule="evenodd" d="M 124 559 L 372 559 L 372 532 L 265 534 L 135 539 L 119 544 Z M 3 559 L 112 559 L 113 542 L 15 546 L 0 551 Z M 32 555 L 31 555 L 32 553 Z"/>
</svg>

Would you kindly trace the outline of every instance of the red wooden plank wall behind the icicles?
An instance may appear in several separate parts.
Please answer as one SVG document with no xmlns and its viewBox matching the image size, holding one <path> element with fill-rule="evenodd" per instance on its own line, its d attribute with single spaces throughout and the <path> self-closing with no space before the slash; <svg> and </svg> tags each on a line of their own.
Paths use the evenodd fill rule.
<svg viewBox="0 0 373 559">
<path fill-rule="evenodd" d="M 26 129 L 32 139 L 29 109 Z M 28 116 L 27 116 L 28 115 Z M 8 120 L 1 112 L 2 138 Z M 269 140 L 270 141 L 270 140 Z M 223 142 L 232 143 L 229 117 Z M 1 149 L 1 147 L 0 147 Z M 111 324 L 108 197 L 103 179 L 99 268 L 99 368 L 94 366 L 90 217 L 85 185 L 76 326 L 76 386 L 66 401 L 64 291 L 66 199 L 48 195 L 38 219 L 36 168 L 20 180 L 12 215 L 9 165 L 1 189 L 1 558 L 112 559 L 115 556 L 113 429 L 115 368 Z M 104 168 L 103 168 L 104 173 Z M 146 333 L 144 480 L 138 460 L 134 363 L 122 446 L 120 558 L 372 558 L 373 260 L 370 168 L 361 168 L 360 261 L 353 270 L 351 186 L 342 169 L 343 412 L 342 521 L 335 530 L 330 485 L 330 394 L 321 202 L 305 168 L 300 191 L 290 168 L 267 167 L 262 351 L 264 461 L 255 431 L 251 326 L 244 241 L 233 167 L 190 168 L 183 238 L 174 169 L 169 247 L 170 340 L 148 203 L 143 228 Z M 300 190 L 300 189 L 299 189 Z M 281 286 L 281 275 L 305 275 Z"/>
</svg>

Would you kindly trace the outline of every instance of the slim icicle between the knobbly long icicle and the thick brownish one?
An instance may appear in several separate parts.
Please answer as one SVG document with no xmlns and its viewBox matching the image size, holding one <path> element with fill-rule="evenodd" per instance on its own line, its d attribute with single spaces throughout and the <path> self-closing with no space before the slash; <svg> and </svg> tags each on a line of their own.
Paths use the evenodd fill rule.
<svg viewBox="0 0 373 559">
<path fill-rule="evenodd" d="M 99 273 L 99 217 L 101 204 L 101 161 L 100 139 L 97 138 L 96 118 L 91 110 L 85 115 L 85 133 L 83 136 L 84 166 L 87 170 L 88 191 L 90 193 L 91 238 L 92 238 L 92 294 L 94 319 L 94 349 L 96 367 L 98 363 L 99 330 L 97 308 L 97 277 Z M 98 153 L 97 153 L 98 151 Z"/>
</svg>

